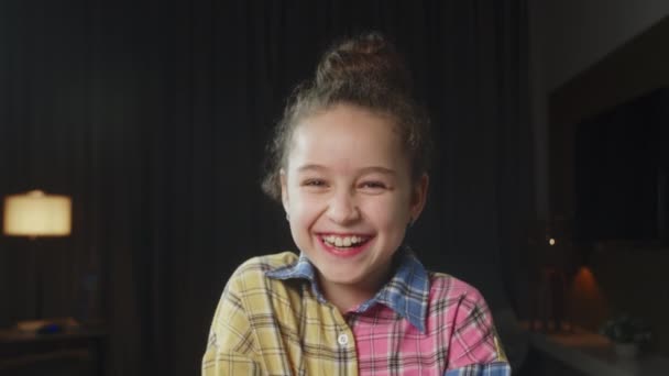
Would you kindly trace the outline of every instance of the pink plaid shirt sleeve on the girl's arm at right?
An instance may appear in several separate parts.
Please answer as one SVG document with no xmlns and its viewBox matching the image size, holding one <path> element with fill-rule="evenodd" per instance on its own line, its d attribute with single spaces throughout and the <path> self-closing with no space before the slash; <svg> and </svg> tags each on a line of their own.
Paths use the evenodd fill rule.
<svg viewBox="0 0 669 376">
<path fill-rule="evenodd" d="M 476 289 L 460 298 L 446 375 L 511 375 L 493 318 Z"/>
</svg>

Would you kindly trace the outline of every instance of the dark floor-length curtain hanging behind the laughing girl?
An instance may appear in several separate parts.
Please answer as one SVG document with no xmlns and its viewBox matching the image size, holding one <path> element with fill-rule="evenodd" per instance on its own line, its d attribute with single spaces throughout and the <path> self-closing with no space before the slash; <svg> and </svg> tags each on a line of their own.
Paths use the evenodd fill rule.
<svg viewBox="0 0 669 376">
<path fill-rule="evenodd" d="M 99 276 L 108 374 L 197 374 L 230 273 L 294 248 L 259 186 L 285 98 L 334 37 L 366 30 L 396 42 L 432 115 L 409 242 L 523 314 L 526 16 L 523 0 L 0 2 L 0 195 L 75 208 L 69 237 L 0 239 L 0 324 L 34 314 L 35 263 L 46 317 L 76 314 Z"/>
</svg>

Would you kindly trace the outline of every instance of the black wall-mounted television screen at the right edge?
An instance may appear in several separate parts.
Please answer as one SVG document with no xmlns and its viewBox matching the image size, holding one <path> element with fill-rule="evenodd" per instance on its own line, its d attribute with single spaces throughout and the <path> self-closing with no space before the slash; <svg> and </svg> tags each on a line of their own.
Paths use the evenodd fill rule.
<svg viewBox="0 0 669 376">
<path fill-rule="evenodd" d="M 574 144 L 574 241 L 668 244 L 669 88 L 582 121 Z"/>
</svg>

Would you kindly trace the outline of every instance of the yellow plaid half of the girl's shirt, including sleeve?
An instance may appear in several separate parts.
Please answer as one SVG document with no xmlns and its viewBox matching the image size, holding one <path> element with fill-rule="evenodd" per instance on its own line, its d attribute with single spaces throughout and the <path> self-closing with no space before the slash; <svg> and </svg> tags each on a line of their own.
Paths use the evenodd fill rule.
<svg viewBox="0 0 669 376">
<path fill-rule="evenodd" d="M 309 284 L 265 277 L 293 264 L 285 252 L 255 257 L 230 277 L 216 310 L 202 375 L 358 375 L 355 341 L 339 310 Z M 340 335 L 348 338 L 340 344 Z"/>
</svg>

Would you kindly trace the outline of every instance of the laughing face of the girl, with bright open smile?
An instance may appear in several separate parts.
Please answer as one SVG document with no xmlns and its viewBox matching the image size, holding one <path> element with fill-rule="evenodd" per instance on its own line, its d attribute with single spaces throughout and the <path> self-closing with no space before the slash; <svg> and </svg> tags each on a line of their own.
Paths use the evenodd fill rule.
<svg viewBox="0 0 669 376">
<path fill-rule="evenodd" d="M 428 185 L 412 181 L 390 118 L 349 104 L 296 126 L 281 181 L 293 239 L 320 283 L 365 290 L 387 277 Z"/>
</svg>

